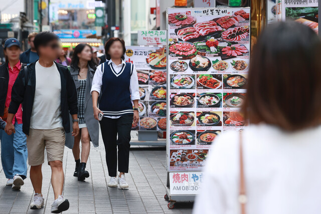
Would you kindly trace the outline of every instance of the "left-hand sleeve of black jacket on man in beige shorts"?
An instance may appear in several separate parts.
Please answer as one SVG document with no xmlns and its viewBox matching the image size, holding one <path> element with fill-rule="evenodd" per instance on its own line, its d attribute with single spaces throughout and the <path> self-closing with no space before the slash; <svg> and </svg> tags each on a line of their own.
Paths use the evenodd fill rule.
<svg viewBox="0 0 321 214">
<path fill-rule="evenodd" d="M 25 72 L 20 72 L 12 87 L 11 102 L 8 110 L 10 114 L 16 114 L 20 104 L 24 100 L 25 84 L 23 82 L 23 76 L 25 76 Z"/>
</svg>

